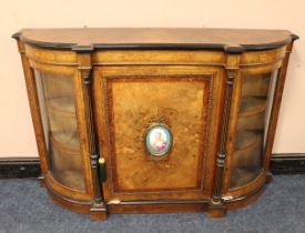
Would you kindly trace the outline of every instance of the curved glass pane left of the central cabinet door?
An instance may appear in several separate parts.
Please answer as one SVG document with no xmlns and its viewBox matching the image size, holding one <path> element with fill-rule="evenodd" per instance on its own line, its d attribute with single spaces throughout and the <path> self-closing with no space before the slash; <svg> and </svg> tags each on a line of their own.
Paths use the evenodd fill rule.
<svg viewBox="0 0 305 233">
<path fill-rule="evenodd" d="M 84 190 L 72 77 L 34 71 L 51 172 L 73 190 Z"/>
</svg>

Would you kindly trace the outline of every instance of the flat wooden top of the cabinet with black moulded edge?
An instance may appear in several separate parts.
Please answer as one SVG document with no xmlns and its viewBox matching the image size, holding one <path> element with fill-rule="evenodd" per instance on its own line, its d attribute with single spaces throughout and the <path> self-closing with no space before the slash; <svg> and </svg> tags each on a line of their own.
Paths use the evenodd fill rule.
<svg viewBox="0 0 305 233">
<path fill-rule="evenodd" d="M 297 39 L 287 30 L 195 28 L 23 29 L 13 36 L 49 49 L 275 49 Z"/>
</svg>

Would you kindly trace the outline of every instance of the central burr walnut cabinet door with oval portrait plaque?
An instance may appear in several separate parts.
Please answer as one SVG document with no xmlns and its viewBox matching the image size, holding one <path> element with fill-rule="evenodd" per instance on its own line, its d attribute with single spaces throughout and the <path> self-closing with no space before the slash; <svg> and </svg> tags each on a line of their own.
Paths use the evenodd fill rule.
<svg viewBox="0 0 305 233">
<path fill-rule="evenodd" d="M 212 195 L 223 80 L 195 65 L 94 69 L 106 201 Z"/>
</svg>

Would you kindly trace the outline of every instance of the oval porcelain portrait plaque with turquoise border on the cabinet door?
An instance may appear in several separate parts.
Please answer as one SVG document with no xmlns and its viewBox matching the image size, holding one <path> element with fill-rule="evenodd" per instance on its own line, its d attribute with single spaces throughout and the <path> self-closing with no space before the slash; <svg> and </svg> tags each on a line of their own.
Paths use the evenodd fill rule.
<svg viewBox="0 0 305 233">
<path fill-rule="evenodd" d="M 170 130 L 161 124 L 153 125 L 146 133 L 146 150 L 152 155 L 163 155 L 171 149 L 172 135 Z"/>
</svg>

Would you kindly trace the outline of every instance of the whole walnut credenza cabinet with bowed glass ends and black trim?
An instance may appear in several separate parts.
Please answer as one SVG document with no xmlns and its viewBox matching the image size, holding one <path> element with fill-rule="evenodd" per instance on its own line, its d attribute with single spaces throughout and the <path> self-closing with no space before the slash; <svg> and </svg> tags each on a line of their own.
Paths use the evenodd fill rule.
<svg viewBox="0 0 305 233">
<path fill-rule="evenodd" d="M 26 29 L 41 185 L 92 219 L 255 201 L 293 42 L 284 30 Z"/>
</svg>

